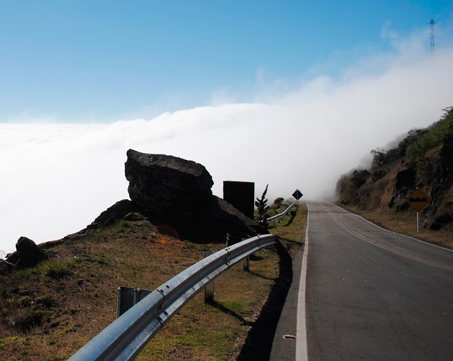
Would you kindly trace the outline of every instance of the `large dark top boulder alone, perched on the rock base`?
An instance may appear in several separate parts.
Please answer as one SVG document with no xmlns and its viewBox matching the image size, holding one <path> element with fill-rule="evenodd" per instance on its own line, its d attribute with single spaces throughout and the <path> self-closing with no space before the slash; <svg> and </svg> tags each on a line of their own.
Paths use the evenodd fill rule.
<svg viewBox="0 0 453 361">
<path fill-rule="evenodd" d="M 214 183 L 199 163 L 130 149 L 125 176 L 132 202 L 156 216 L 166 218 L 187 207 L 202 209 L 210 205 Z"/>
</svg>

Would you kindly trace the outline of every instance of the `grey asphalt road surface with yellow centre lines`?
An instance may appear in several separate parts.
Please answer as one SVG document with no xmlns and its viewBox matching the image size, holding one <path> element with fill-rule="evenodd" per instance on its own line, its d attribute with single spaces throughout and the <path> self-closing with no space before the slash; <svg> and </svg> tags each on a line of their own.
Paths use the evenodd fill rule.
<svg viewBox="0 0 453 361">
<path fill-rule="evenodd" d="M 452 360 L 453 252 L 307 204 L 308 359 Z"/>
</svg>

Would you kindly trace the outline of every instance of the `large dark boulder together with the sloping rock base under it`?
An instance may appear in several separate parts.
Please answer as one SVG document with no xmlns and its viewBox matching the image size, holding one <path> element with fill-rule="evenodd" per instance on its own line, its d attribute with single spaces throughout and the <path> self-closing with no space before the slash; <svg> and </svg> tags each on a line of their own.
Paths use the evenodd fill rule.
<svg viewBox="0 0 453 361">
<path fill-rule="evenodd" d="M 125 176 L 132 203 L 167 233 L 193 242 L 224 242 L 230 232 L 267 233 L 230 203 L 212 196 L 212 177 L 199 163 L 128 150 Z"/>
</svg>

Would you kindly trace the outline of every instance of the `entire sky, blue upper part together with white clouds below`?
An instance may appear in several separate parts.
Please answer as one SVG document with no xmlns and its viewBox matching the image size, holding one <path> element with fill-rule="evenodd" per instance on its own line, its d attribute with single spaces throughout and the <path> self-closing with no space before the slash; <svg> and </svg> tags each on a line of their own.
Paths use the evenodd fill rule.
<svg viewBox="0 0 453 361">
<path fill-rule="evenodd" d="M 453 106 L 451 1 L 0 5 L 0 257 L 128 198 L 130 148 L 325 198 Z"/>
</svg>

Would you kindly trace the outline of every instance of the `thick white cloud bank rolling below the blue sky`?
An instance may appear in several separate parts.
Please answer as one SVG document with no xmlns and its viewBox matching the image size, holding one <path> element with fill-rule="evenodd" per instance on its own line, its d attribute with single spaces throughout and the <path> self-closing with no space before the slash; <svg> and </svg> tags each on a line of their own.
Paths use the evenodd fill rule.
<svg viewBox="0 0 453 361">
<path fill-rule="evenodd" d="M 21 235 L 40 243 L 79 231 L 128 198 L 130 148 L 203 164 L 217 196 L 223 180 L 255 182 L 257 197 L 269 183 L 269 203 L 296 188 L 306 199 L 332 194 L 364 154 L 453 105 L 453 51 L 421 53 L 409 42 L 340 80 L 318 76 L 284 93 L 266 89 L 247 104 L 110 125 L 0 124 L 0 250 L 14 251 Z"/>
</svg>

